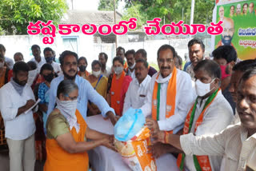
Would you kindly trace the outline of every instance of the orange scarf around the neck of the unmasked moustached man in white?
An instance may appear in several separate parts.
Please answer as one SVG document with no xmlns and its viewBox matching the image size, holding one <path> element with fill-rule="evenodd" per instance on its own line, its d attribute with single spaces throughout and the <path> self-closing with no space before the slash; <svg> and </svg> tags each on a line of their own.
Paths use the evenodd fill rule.
<svg viewBox="0 0 256 171">
<path fill-rule="evenodd" d="M 156 78 L 158 79 L 159 74 Z M 175 101 L 176 101 L 176 85 L 177 84 L 177 69 L 174 67 L 172 76 L 169 80 L 167 92 L 166 92 L 166 118 L 174 115 Z M 158 82 L 154 82 L 154 90 L 152 96 L 152 118 L 155 121 L 159 120 L 159 108 L 160 108 L 160 89 L 158 89 Z M 172 133 L 172 131 L 170 131 Z"/>
</svg>

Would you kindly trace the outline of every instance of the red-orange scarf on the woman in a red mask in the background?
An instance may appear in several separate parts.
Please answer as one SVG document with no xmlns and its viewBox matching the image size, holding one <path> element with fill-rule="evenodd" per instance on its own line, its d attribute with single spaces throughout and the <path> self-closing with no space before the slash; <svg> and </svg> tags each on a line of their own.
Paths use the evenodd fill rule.
<svg viewBox="0 0 256 171">
<path fill-rule="evenodd" d="M 125 71 L 122 71 L 121 77 L 117 79 L 116 74 L 113 75 L 111 88 L 110 88 L 110 105 L 114 109 L 115 113 L 121 116 L 121 96 L 122 96 L 122 82 L 126 77 Z"/>
</svg>

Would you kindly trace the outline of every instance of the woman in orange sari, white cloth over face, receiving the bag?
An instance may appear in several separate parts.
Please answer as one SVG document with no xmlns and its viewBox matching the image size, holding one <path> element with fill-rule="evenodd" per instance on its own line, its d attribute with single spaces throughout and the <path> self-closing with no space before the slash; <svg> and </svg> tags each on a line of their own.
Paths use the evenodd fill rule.
<svg viewBox="0 0 256 171">
<path fill-rule="evenodd" d="M 46 164 L 44 171 L 89 169 L 86 151 L 99 145 L 114 150 L 114 136 L 90 129 L 77 108 L 78 85 L 63 80 L 58 85 L 57 106 L 46 123 Z M 90 139 L 91 141 L 86 141 Z"/>
</svg>

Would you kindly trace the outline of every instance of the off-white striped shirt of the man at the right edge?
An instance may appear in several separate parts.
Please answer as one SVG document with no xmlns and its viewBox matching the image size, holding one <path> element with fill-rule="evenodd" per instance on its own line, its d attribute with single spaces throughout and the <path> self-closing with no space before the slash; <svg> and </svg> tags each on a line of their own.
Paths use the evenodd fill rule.
<svg viewBox="0 0 256 171">
<path fill-rule="evenodd" d="M 239 122 L 210 136 L 182 135 L 180 141 L 186 155 L 223 156 L 221 171 L 242 171 L 256 148 L 256 133 L 248 137 L 248 131 Z"/>
</svg>

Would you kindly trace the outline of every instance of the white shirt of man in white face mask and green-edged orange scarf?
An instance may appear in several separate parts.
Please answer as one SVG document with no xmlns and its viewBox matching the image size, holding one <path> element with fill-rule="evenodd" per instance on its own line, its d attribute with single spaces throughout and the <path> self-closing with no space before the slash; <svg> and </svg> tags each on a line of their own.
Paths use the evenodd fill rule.
<svg viewBox="0 0 256 171">
<path fill-rule="evenodd" d="M 194 113 L 194 121 L 190 129 L 190 133 L 194 133 L 194 135 L 220 133 L 223 129 L 226 129 L 234 119 L 230 103 L 226 101 L 226 98 L 222 95 L 222 91 L 219 91 L 214 98 L 214 101 L 206 109 L 201 125 L 198 125 L 197 131 L 194 132 L 195 122 L 198 120 L 207 99 L 208 98 L 202 100 L 202 98 L 198 98 L 198 104 Z M 218 171 L 222 163 L 222 156 L 210 156 L 209 159 L 213 171 Z M 190 171 L 196 171 L 193 156 L 186 155 L 185 166 Z"/>
</svg>

